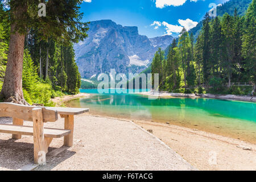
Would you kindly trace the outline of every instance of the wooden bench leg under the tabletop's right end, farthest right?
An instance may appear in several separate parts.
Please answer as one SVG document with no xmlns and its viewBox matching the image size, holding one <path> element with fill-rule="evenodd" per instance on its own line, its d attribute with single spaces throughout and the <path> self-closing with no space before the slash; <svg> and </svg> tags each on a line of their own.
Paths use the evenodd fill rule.
<svg viewBox="0 0 256 182">
<path fill-rule="evenodd" d="M 74 130 L 74 115 L 63 115 L 65 118 L 65 130 L 71 130 L 71 133 L 64 137 L 64 146 L 73 146 L 73 130 Z"/>
</svg>

